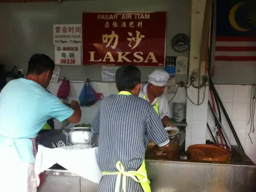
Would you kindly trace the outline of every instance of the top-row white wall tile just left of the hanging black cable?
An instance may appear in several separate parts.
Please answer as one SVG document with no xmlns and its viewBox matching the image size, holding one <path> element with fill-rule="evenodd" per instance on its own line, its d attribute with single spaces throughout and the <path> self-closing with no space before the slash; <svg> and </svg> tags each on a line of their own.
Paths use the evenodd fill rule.
<svg viewBox="0 0 256 192">
<path fill-rule="evenodd" d="M 234 85 L 234 103 L 248 103 L 249 88 L 246 85 Z"/>
</svg>

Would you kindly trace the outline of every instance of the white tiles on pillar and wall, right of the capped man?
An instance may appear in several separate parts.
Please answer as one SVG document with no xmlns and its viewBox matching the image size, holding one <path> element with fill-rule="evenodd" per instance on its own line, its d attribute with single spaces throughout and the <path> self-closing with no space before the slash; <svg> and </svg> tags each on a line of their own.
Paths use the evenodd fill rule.
<svg viewBox="0 0 256 192">
<path fill-rule="evenodd" d="M 215 85 L 215 88 L 222 100 L 222 103 L 228 113 L 230 120 L 238 134 L 240 142 L 242 143 L 246 154 L 256 163 L 256 132 L 250 134 L 252 143 L 249 139 L 250 132 L 250 94 L 251 86 L 242 85 Z M 210 94 L 206 88 L 205 100 L 200 106 L 193 105 L 187 99 L 187 128 L 186 128 L 186 148 L 192 144 L 205 144 L 206 139 L 212 140 L 210 132 L 207 129 L 208 122 L 212 132 L 214 132 L 215 122 L 212 112 L 208 108 L 208 99 Z M 188 88 L 188 96 L 193 102 L 197 101 L 197 92 L 195 88 Z M 200 90 L 200 101 L 203 98 L 203 88 Z M 256 115 L 255 115 L 256 116 Z M 226 130 L 228 138 L 232 144 L 236 144 L 234 136 L 228 126 L 227 120 L 221 111 L 222 126 Z M 256 120 L 255 120 L 256 126 Z"/>
</svg>

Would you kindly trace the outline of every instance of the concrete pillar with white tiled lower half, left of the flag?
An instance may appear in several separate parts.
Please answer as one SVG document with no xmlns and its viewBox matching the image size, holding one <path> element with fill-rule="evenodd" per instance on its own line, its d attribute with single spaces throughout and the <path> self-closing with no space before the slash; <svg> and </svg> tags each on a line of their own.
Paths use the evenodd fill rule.
<svg viewBox="0 0 256 192">
<path fill-rule="evenodd" d="M 202 84 L 205 75 L 205 58 L 208 46 L 208 30 L 212 11 L 212 0 L 191 0 L 190 55 L 188 82 L 193 72 L 195 85 Z M 186 148 L 192 144 L 205 144 L 208 109 L 208 86 L 204 90 L 190 86 L 187 89 Z M 194 104 L 193 104 L 194 103 Z M 201 104 L 202 103 L 202 104 Z M 200 104 L 200 105 L 198 105 Z"/>
</svg>

